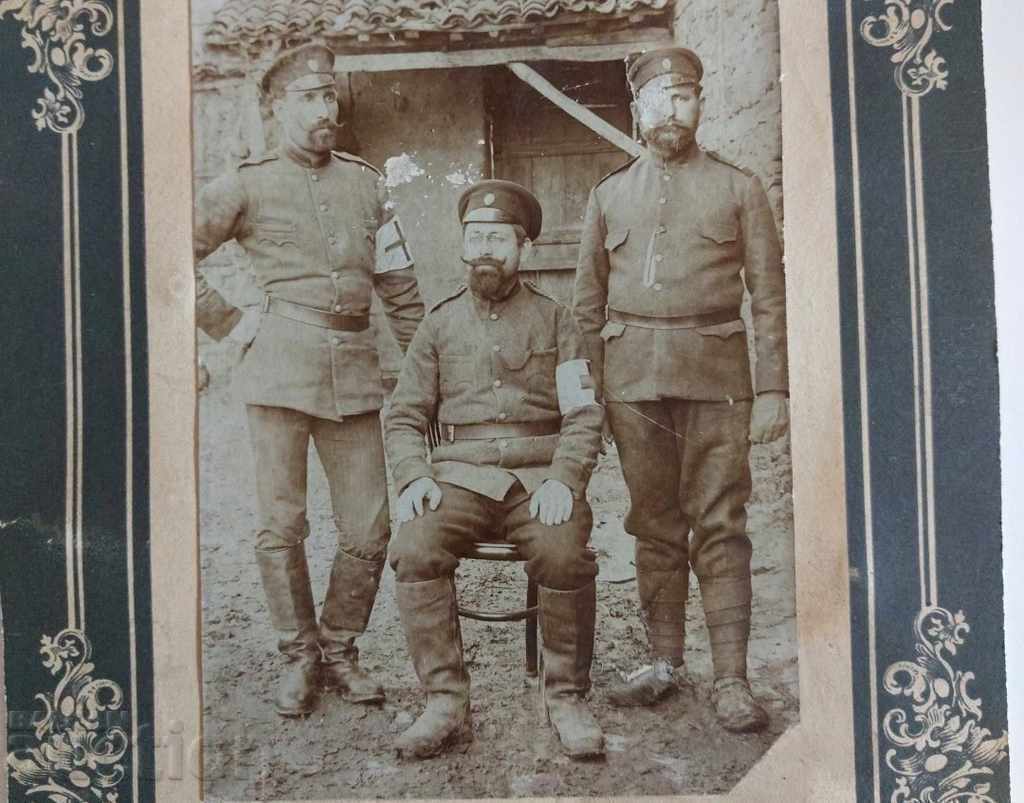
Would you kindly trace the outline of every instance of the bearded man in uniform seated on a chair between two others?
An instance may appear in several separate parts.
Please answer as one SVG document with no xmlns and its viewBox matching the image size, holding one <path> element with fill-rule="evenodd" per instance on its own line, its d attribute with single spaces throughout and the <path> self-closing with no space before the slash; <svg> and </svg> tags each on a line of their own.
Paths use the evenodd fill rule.
<svg viewBox="0 0 1024 803">
<path fill-rule="evenodd" d="M 454 573 L 504 537 L 540 586 L 545 711 L 565 752 L 603 755 L 590 688 L 597 563 L 585 492 L 603 409 L 570 312 L 519 280 L 541 206 L 510 181 L 459 200 L 463 287 L 424 319 L 385 419 L 401 529 L 389 553 L 423 714 L 396 743 L 423 758 L 471 737 Z M 439 441 L 428 461 L 424 438 Z"/>
</svg>

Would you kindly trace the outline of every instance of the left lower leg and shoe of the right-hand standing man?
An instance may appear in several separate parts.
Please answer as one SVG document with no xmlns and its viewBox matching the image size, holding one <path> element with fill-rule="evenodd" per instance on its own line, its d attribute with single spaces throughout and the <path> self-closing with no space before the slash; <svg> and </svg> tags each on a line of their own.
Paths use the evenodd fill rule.
<svg viewBox="0 0 1024 803">
<path fill-rule="evenodd" d="M 651 567 L 638 543 L 637 591 L 652 661 L 611 687 L 607 699 L 613 706 L 651 706 L 677 688 L 674 670 L 683 664 L 689 583 L 688 564 Z"/>
</svg>

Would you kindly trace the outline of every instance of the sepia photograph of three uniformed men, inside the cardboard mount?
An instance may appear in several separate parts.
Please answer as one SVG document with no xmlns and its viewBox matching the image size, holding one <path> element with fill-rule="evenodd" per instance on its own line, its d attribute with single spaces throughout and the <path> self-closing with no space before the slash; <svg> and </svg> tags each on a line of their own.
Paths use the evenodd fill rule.
<svg viewBox="0 0 1024 803">
<path fill-rule="evenodd" d="M 799 719 L 775 3 L 193 0 L 211 799 Z"/>
</svg>

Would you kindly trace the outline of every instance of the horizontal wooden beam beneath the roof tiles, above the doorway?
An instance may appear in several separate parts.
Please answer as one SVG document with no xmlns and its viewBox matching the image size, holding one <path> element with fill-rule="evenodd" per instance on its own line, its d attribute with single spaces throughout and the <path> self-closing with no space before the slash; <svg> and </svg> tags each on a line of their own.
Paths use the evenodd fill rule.
<svg viewBox="0 0 1024 803">
<path fill-rule="evenodd" d="M 647 32 L 650 34 L 651 32 Z M 385 53 L 338 53 L 334 69 L 339 73 L 389 73 L 396 70 L 453 70 L 463 67 L 494 67 L 511 61 L 617 61 L 641 50 L 672 44 L 665 37 L 620 41 L 606 44 L 583 44 L 566 47 L 522 45 L 518 47 L 480 48 L 476 50 L 430 50 Z M 336 50 L 338 46 L 335 46 Z"/>
</svg>

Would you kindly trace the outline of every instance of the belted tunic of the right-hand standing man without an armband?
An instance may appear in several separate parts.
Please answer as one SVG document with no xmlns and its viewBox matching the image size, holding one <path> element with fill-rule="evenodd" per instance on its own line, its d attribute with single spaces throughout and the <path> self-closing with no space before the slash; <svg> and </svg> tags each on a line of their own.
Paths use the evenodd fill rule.
<svg viewBox="0 0 1024 803">
<path fill-rule="evenodd" d="M 606 397 L 751 398 L 739 318 L 744 280 L 757 391 L 785 390 L 781 249 L 758 178 L 694 146 L 677 163 L 645 154 L 598 183 L 584 222 L 574 312 Z M 716 313 L 731 320 L 682 321 Z"/>
</svg>

